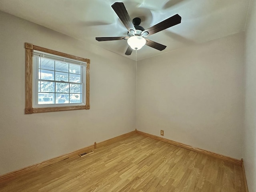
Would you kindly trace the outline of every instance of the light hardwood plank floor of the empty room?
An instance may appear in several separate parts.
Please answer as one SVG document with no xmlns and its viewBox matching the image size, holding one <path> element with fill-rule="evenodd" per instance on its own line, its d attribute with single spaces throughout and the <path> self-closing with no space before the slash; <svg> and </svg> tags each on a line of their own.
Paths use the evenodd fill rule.
<svg viewBox="0 0 256 192">
<path fill-rule="evenodd" d="M 1 192 L 244 192 L 242 167 L 134 134 L 0 182 Z"/>
</svg>

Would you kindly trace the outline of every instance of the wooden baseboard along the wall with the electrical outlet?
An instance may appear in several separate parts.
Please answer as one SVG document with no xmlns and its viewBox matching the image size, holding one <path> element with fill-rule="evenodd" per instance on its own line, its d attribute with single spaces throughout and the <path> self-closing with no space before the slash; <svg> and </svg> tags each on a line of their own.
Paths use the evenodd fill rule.
<svg viewBox="0 0 256 192">
<path fill-rule="evenodd" d="M 163 142 L 166 142 L 166 143 L 178 146 L 178 147 L 182 147 L 182 148 L 185 148 L 185 149 L 188 149 L 188 150 L 192 150 L 194 152 L 198 152 L 198 153 L 201 153 L 201 154 L 213 156 L 213 157 L 216 157 L 216 158 L 221 158 L 222 160 L 226 160 L 228 162 L 232 162 L 234 164 L 241 165 L 241 160 L 238 160 L 238 159 L 235 159 L 235 158 L 231 158 L 231 157 L 228 157 L 228 156 L 224 156 L 224 155 L 217 154 L 217 153 L 214 153 L 214 152 L 210 152 L 210 151 L 207 151 L 207 150 L 203 150 L 203 149 L 200 149 L 200 148 L 195 148 L 195 147 L 192 147 L 192 146 L 180 143 L 180 142 L 176 142 L 176 141 L 173 141 L 173 140 L 168 140 L 166 138 L 158 137 L 158 136 L 151 135 L 151 134 L 148 134 L 148 133 L 144 133 L 144 132 L 141 132 L 141 131 L 138 131 L 138 130 L 136 130 L 136 133 L 142 134 L 144 136 L 148 136 L 150 138 L 153 138 L 153 139 L 156 139 L 156 140 L 159 140 L 159 141 L 163 141 Z"/>
</svg>

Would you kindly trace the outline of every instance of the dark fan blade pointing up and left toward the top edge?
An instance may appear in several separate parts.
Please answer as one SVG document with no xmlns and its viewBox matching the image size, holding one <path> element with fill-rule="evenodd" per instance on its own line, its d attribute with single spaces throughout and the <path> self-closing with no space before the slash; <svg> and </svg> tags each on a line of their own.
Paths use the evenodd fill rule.
<svg viewBox="0 0 256 192">
<path fill-rule="evenodd" d="M 120 20 L 122 21 L 122 23 L 124 24 L 124 26 L 128 31 L 130 30 L 136 31 L 134 25 L 132 24 L 132 20 L 128 12 L 126 11 L 126 8 L 123 3 L 115 2 L 114 4 L 112 4 L 112 8 L 114 9 L 117 16 L 120 18 Z"/>
</svg>

